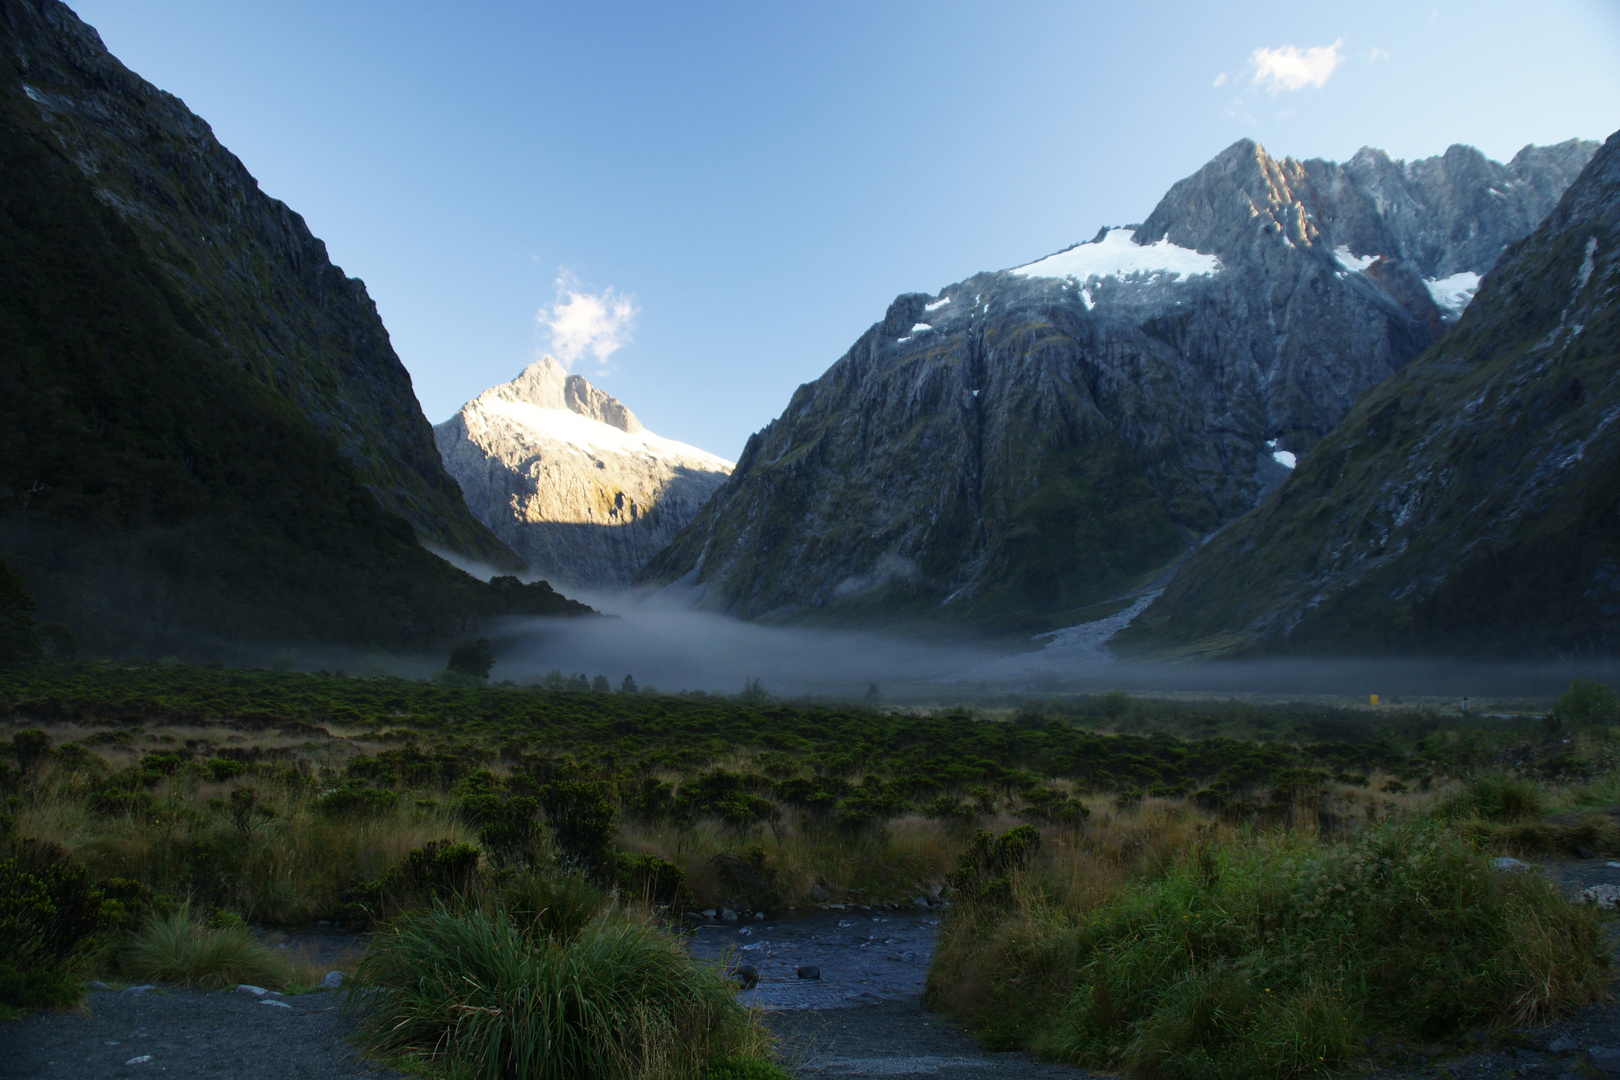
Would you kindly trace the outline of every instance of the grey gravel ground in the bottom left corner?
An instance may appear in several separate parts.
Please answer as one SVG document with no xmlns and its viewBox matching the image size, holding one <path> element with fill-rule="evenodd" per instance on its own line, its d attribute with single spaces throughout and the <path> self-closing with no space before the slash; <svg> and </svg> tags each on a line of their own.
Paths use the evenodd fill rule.
<svg viewBox="0 0 1620 1080">
<path fill-rule="evenodd" d="M 92 991 L 75 1012 L 0 1023 L 0 1077 L 217 1077 L 382 1080 L 343 1035 L 342 994 L 256 997 L 246 991 Z"/>
</svg>

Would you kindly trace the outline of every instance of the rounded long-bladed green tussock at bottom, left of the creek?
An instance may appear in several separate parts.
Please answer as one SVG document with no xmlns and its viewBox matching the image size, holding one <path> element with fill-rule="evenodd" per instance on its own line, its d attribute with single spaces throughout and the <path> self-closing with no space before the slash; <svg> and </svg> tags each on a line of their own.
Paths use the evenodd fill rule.
<svg viewBox="0 0 1620 1080">
<path fill-rule="evenodd" d="M 439 904 L 379 933 L 355 981 L 369 1049 L 458 1077 L 697 1077 L 758 1057 L 734 988 L 622 910 L 559 939 Z"/>
</svg>

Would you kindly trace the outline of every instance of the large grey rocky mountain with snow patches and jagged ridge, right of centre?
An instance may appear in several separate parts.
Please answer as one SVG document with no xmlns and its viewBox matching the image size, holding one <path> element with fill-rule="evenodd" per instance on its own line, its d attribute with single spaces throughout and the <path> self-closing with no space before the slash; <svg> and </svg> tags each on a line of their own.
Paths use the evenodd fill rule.
<svg viewBox="0 0 1620 1080">
<path fill-rule="evenodd" d="M 897 298 L 645 576 L 742 617 L 1106 614 L 1437 340 L 1594 149 L 1238 142 L 1134 230 Z"/>
</svg>

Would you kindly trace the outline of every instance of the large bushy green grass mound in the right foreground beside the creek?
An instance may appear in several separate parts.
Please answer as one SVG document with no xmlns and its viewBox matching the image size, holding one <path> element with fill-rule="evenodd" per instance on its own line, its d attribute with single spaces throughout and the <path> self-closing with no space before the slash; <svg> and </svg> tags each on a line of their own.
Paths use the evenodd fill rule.
<svg viewBox="0 0 1620 1080">
<path fill-rule="evenodd" d="M 1089 902 L 1051 886 L 957 912 L 930 1002 L 990 1046 L 1139 1077 L 1315 1075 L 1374 1033 L 1526 1023 L 1609 983 L 1596 912 L 1434 818 L 1338 845 L 1212 834 Z"/>
</svg>

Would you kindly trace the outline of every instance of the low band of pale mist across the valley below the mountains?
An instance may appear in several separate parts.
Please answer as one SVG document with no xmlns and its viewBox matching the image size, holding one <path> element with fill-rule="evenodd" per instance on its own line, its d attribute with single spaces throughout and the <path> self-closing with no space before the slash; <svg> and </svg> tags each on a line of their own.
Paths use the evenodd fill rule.
<svg viewBox="0 0 1620 1080">
<path fill-rule="evenodd" d="M 572 593 L 570 593 L 572 594 Z M 936 644 L 901 635 L 763 627 L 693 610 L 661 596 L 582 594 L 611 619 L 514 619 L 496 638 L 494 678 L 531 682 L 549 670 L 629 674 L 674 693 L 737 693 L 750 678 L 778 696 L 859 698 L 876 683 L 885 703 L 980 695 L 1207 691 L 1218 695 L 1400 696 L 1445 704 L 1471 698 L 1544 698 L 1576 675 L 1614 682 L 1614 661 L 1497 664 L 1460 661 L 1272 659 L 1202 664 L 1116 661 L 1105 641 L 1152 599 L 1095 623 L 1017 648 Z"/>
</svg>

